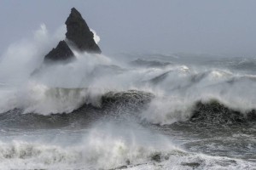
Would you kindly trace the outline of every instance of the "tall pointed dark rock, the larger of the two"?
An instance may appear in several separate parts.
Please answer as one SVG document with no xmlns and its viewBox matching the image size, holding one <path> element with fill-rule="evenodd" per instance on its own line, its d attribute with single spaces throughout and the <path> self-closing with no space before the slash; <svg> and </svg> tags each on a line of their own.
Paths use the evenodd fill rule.
<svg viewBox="0 0 256 170">
<path fill-rule="evenodd" d="M 94 41 L 93 33 L 90 31 L 82 15 L 76 8 L 71 9 L 65 24 L 67 25 L 66 37 L 73 42 L 81 51 L 101 54 L 102 51 Z"/>
</svg>

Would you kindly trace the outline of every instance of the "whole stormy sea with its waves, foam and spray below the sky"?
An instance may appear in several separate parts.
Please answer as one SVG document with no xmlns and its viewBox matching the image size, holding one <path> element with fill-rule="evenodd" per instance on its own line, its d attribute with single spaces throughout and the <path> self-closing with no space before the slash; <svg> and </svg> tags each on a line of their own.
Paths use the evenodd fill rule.
<svg viewBox="0 0 256 170">
<path fill-rule="evenodd" d="M 256 60 L 81 54 L 45 27 L 0 58 L 0 169 L 256 169 Z M 64 34 L 63 34 L 64 35 Z"/>
</svg>

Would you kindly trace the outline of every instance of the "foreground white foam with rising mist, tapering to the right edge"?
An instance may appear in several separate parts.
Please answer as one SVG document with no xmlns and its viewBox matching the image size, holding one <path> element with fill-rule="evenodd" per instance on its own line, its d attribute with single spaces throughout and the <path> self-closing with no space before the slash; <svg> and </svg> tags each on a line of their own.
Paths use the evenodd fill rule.
<svg viewBox="0 0 256 170">
<path fill-rule="evenodd" d="M 80 131 L 20 133 L 0 142 L 1 169 L 242 169 L 255 162 L 189 153 L 170 137 L 129 123 L 99 122 Z M 82 136 L 82 138 L 81 138 Z M 59 139 L 60 138 L 60 139 Z M 63 140 L 63 139 L 65 140 Z"/>
</svg>

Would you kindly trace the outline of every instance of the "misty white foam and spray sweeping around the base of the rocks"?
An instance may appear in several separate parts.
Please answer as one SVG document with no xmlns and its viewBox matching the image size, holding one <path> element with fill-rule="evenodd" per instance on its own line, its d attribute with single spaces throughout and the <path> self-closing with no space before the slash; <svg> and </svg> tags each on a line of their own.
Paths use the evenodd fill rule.
<svg viewBox="0 0 256 170">
<path fill-rule="evenodd" d="M 111 56 L 74 49 L 73 62 L 43 65 L 44 55 L 55 47 L 62 31 L 63 27 L 51 35 L 42 25 L 33 38 L 11 45 L 3 54 L 1 112 L 14 108 L 44 115 L 71 112 L 84 103 L 101 105 L 106 92 L 129 89 L 154 94 L 142 118 L 160 124 L 188 119 L 199 100 L 218 99 L 244 113 L 255 108 L 255 76 L 229 70 L 179 64 L 135 68 Z"/>
</svg>

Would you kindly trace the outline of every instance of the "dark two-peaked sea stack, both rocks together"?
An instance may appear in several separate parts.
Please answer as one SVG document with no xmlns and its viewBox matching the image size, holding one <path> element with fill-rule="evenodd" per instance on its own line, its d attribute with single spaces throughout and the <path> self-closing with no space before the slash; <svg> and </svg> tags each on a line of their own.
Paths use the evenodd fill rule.
<svg viewBox="0 0 256 170">
<path fill-rule="evenodd" d="M 82 52 L 90 54 L 101 54 L 102 51 L 94 41 L 94 34 L 90 31 L 82 15 L 76 8 L 71 9 L 66 22 L 67 33 L 66 39 L 71 42 L 73 46 L 78 48 Z M 44 61 L 63 61 L 73 59 L 74 54 L 68 47 L 67 42 L 62 40 L 58 43 L 56 48 L 53 48 L 49 54 L 46 54 Z"/>
</svg>

